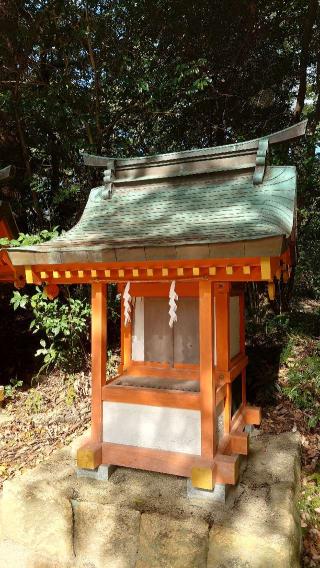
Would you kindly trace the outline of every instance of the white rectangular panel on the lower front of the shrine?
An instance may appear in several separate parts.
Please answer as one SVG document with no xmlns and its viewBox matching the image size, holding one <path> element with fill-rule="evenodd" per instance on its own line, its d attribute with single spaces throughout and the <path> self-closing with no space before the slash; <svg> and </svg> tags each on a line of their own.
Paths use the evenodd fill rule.
<svg viewBox="0 0 320 568">
<path fill-rule="evenodd" d="M 200 411 L 104 402 L 103 441 L 200 455 Z"/>
</svg>

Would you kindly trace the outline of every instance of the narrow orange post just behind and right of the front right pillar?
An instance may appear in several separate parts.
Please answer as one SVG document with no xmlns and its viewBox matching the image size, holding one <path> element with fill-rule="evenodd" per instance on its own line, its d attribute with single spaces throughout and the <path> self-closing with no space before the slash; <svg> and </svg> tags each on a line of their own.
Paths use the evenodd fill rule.
<svg viewBox="0 0 320 568">
<path fill-rule="evenodd" d="M 230 290 L 229 282 L 217 282 L 214 285 L 215 321 L 216 321 L 216 370 L 225 380 L 225 373 L 230 368 Z M 232 390 L 231 383 L 226 383 L 224 403 L 224 433 L 229 434 L 231 427 Z"/>
</svg>

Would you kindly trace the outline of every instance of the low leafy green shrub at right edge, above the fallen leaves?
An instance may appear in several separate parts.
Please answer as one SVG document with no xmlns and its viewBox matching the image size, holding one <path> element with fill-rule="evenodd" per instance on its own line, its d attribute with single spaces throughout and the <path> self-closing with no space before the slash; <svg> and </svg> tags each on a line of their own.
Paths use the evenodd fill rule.
<svg viewBox="0 0 320 568">
<path fill-rule="evenodd" d="M 283 392 L 308 416 L 308 425 L 320 423 L 320 345 L 288 369 Z"/>
</svg>

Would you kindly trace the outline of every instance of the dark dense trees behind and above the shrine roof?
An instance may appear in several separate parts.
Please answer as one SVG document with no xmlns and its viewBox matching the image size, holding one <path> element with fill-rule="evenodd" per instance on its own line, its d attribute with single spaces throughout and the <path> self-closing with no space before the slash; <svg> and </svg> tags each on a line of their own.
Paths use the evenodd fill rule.
<svg viewBox="0 0 320 568">
<path fill-rule="evenodd" d="M 308 115 L 308 142 L 282 148 L 281 158 L 300 168 L 303 272 L 320 289 L 311 270 L 320 233 L 319 18 L 318 0 L 2 2 L 0 165 L 17 167 L 20 229 L 75 222 L 99 175 L 82 165 L 81 150 L 214 146 Z"/>
</svg>

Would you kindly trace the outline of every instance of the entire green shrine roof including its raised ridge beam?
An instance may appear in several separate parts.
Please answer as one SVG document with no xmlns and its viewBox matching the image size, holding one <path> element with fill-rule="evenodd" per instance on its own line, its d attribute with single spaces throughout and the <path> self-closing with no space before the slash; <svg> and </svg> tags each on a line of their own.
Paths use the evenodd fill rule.
<svg viewBox="0 0 320 568">
<path fill-rule="evenodd" d="M 106 168 L 80 221 L 48 243 L 8 249 L 14 265 L 279 256 L 294 227 L 296 169 L 269 146 L 307 121 L 255 140 L 143 156 L 84 155 Z"/>
</svg>

